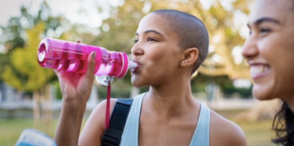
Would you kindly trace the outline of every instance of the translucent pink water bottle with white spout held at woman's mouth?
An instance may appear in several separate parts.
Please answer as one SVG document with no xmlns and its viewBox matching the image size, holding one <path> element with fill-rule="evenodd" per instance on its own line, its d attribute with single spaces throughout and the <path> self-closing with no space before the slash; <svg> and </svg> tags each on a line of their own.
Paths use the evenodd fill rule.
<svg viewBox="0 0 294 146">
<path fill-rule="evenodd" d="M 44 38 L 38 48 L 38 62 L 41 67 L 67 72 L 85 73 L 88 55 L 96 51 L 96 80 L 107 85 L 113 77 L 124 77 L 128 69 L 137 64 L 129 61 L 126 53 L 107 51 L 105 48 L 79 44 L 59 39 Z"/>
</svg>

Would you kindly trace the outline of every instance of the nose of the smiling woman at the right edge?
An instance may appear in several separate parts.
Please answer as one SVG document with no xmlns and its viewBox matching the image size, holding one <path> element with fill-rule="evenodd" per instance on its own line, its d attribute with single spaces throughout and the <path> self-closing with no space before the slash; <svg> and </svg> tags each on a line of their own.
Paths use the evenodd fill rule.
<svg viewBox="0 0 294 146">
<path fill-rule="evenodd" d="M 242 49 L 242 56 L 245 59 L 250 59 L 258 55 L 258 48 L 253 37 L 248 38 Z"/>
</svg>

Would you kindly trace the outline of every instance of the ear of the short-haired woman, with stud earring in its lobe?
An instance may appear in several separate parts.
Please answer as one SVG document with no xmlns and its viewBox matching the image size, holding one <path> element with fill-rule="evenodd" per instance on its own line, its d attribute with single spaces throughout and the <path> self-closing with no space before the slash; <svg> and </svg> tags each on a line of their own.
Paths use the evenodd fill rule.
<svg viewBox="0 0 294 146">
<path fill-rule="evenodd" d="M 181 61 L 181 66 L 190 66 L 193 65 L 199 56 L 199 51 L 197 48 L 189 48 L 184 51 L 183 58 Z"/>
</svg>

